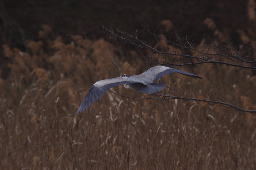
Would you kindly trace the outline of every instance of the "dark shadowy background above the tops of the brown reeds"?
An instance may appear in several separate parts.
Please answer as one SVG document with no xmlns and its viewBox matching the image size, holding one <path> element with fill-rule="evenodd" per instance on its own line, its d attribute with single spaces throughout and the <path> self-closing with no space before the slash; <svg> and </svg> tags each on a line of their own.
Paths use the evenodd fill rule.
<svg viewBox="0 0 256 170">
<path fill-rule="evenodd" d="M 233 34 L 239 28 L 248 30 L 250 26 L 244 0 L 5 0 L 4 3 L 7 14 L 21 26 L 27 39 L 36 39 L 42 24 L 48 24 L 57 35 L 79 34 L 94 40 L 103 37 L 94 31 L 94 23 L 110 29 L 138 29 L 140 36 L 147 39 L 142 25 L 164 32 L 160 22 L 170 19 L 174 31 L 188 35 L 196 43 L 212 36 L 203 24 L 206 18 L 212 18 L 225 34 Z M 8 36 L 4 43 L 10 42 Z"/>
</svg>

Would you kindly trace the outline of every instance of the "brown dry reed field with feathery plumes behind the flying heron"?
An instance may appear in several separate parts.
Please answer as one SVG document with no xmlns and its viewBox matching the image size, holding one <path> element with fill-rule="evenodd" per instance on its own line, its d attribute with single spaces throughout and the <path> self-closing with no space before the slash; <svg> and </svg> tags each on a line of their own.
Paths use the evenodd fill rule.
<svg viewBox="0 0 256 170">
<path fill-rule="evenodd" d="M 30 53 L 2 46 L 8 78 L 0 79 L 0 169 L 256 168 L 255 114 L 195 101 L 129 99 L 110 91 L 76 114 L 87 89 L 111 78 L 105 67 L 120 76 L 109 55 L 128 75 L 151 65 L 103 39 L 77 35 L 65 44 L 62 37 L 50 40 L 49 31 L 44 25 L 41 41 L 26 41 Z M 255 110 L 252 71 L 212 64 L 178 69 L 204 79 L 174 73 L 161 81 L 184 92 L 193 84 L 205 96 L 206 83 L 222 97 L 235 91 L 232 97 L 242 108 Z M 112 90 L 143 96 L 123 86 Z M 166 87 L 162 94 L 172 91 Z"/>
</svg>

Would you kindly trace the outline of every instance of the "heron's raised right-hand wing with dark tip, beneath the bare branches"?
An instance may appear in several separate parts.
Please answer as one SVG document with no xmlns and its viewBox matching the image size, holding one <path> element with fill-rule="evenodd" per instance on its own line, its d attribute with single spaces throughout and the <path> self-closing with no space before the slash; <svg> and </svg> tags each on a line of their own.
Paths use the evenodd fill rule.
<svg viewBox="0 0 256 170">
<path fill-rule="evenodd" d="M 191 76 L 191 77 L 195 77 L 195 78 L 200 78 L 199 76 L 193 75 L 191 73 L 185 72 L 185 71 L 181 71 L 175 68 L 170 68 L 170 67 L 165 67 L 165 66 L 161 66 L 161 65 L 157 65 L 155 67 L 152 67 L 150 69 L 148 69 L 147 71 L 145 71 L 144 73 L 138 75 L 138 76 L 131 76 L 129 77 L 132 80 L 135 80 L 139 83 L 142 83 L 144 85 L 147 84 L 152 84 L 154 80 L 157 80 L 159 78 L 161 78 L 164 75 L 170 74 L 170 73 L 180 73 L 186 76 Z"/>
</svg>

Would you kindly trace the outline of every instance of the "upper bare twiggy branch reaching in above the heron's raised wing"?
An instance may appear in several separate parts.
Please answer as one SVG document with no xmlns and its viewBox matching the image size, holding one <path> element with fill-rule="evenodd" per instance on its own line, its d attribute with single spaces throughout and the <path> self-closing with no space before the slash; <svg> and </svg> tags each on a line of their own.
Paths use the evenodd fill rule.
<svg viewBox="0 0 256 170">
<path fill-rule="evenodd" d="M 194 48 L 192 42 L 189 42 L 187 37 L 181 38 L 177 33 L 173 34 L 176 42 L 166 40 L 165 38 L 159 37 L 155 33 L 152 33 L 148 30 L 150 34 L 153 34 L 155 38 L 158 38 L 162 41 L 166 41 L 171 45 L 174 45 L 176 48 L 183 49 L 182 53 L 172 53 L 169 51 L 168 47 L 161 47 L 157 49 L 153 47 L 150 42 L 149 45 L 144 43 L 142 40 L 138 38 L 137 31 L 135 33 L 127 33 L 124 30 L 116 29 L 117 33 L 114 31 L 110 31 L 109 29 L 102 26 L 102 29 L 99 27 L 94 27 L 98 31 L 101 31 L 110 36 L 116 37 L 117 39 L 122 40 L 124 43 L 129 43 L 135 45 L 136 48 L 141 52 L 142 58 L 149 63 L 161 64 L 161 65 L 170 65 L 170 66 L 185 66 L 185 65 L 195 65 L 195 64 L 205 64 L 205 63 L 213 63 L 213 64 L 224 64 L 230 65 L 234 67 L 241 67 L 246 69 L 256 69 L 256 58 L 252 55 L 254 54 L 253 48 L 247 48 L 246 44 L 243 44 L 238 52 L 235 52 L 234 49 L 230 48 L 230 45 L 224 44 L 216 44 L 214 43 L 214 47 L 208 47 L 207 52 L 199 50 L 198 48 Z M 151 50 L 151 54 L 143 54 L 140 49 L 148 49 Z M 187 53 L 185 50 L 193 51 L 193 55 Z M 195 53 L 198 52 L 200 56 L 195 56 Z M 159 55 L 165 58 L 164 61 L 158 60 L 158 58 L 154 58 L 152 56 L 153 53 L 158 53 Z M 173 60 L 171 57 L 176 56 L 176 60 Z M 227 61 L 216 61 L 214 60 L 215 56 L 224 57 Z M 245 65 L 248 64 L 248 65 Z"/>
</svg>

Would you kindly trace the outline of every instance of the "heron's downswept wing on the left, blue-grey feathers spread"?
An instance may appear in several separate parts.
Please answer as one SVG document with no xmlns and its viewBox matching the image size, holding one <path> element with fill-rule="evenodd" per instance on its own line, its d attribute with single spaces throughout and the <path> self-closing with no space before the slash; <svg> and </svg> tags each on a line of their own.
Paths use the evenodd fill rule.
<svg viewBox="0 0 256 170">
<path fill-rule="evenodd" d="M 133 83 L 139 83 L 135 82 L 134 80 L 129 80 L 129 78 L 113 78 L 113 79 L 106 79 L 106 80 L 100 80 L 93 84 L 88 90 L 88 93 L 83 99 L 82 104 L 80 105 L 78 111 L 76 113 L 81 113 L 85 109 L 88 109 L 88 107 L 93 104 L 93 102 L 97 101 L 106 90 L 109 90 L 112 87 L 119 86 L 121 84 L 133 84 Z"/>
</svg>

